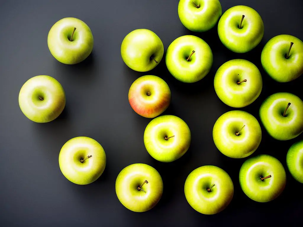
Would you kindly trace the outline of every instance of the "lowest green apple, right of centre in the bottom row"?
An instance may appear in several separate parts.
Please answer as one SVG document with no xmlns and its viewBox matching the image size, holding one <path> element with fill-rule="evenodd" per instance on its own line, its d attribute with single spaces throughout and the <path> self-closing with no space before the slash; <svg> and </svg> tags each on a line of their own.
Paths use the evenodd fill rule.
<svg viewBox="0 0 303 227">
<path fill-rule="evenodd" d="M 192 171 L 184 185 L 189 205 L 202 214 L 224 210 L 234 195 L 230 176 L 217 166 L 201 166 Z"/>
</svg>

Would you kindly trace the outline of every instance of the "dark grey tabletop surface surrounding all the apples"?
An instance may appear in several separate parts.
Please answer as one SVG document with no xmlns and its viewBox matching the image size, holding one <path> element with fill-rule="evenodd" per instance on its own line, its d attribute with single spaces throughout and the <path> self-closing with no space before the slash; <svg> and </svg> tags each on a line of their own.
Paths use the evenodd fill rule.
<svg viewBox="0 0 303 227">
<path fill-rule="evenodd" d="M 290 140 L 272 139 L 262 127 L 262 142 L 252 155 L 270 154 L 285 167 L 287 185 L 272 202 L 258 203 L 241 190 L 238 172 L 246 159 L 221 154 L 212 139 L 212 128 L 221 114 L 233 110 L 217 97 L 213 78 L 224 62 L 244 58 L 258 66 L 263 76 L 260 97 L 242 110 L 260 122 L 262 101 L 275 92 L 291 92 L 301 99 L 301 78 L 273 81 L 261 66 L 265 43 L 280 34 L 303 39 L 301 0 L 221 0 L 222 11 L 248 5 L 261 15 L 265 34 L 250 53 L 235 54 L 221 44 L 217 27 L 205 33 L 188 31 L 178 18 L 176 0 L 114 1 L 7 1 L 0 3 L 0 225 L 1 226 L 213 226 L 300 225 L 303 185 L 291 177 L 286 153 L 303 135 Z M 92 54 L 77 65 L 61 64 L 52 57 L 47 35 L 65 17 L 79 18 L 95 39 Z M 137 28 L 154 31 L 164 49 L 177 37 L 193 34 L 204 39 L 214 54 L 211 72 L 195 84 L 172 77 L 164 58 L 152 71 L 139 73 L 122 61 L 120 45 Z M 58 119 L 45 124 L 28 120 L 18 106 L 18 94 L 29 78 L 55 77 L 66 92 L 66 107 Z M 192 142 L 188 152 L 173 163 L 160 163 L 145 150 L 143 133 L 151 119 L 135 113 L 128 103 L 132 82 L 145 74 L 163 78 L 172 93 L 164 114 L 188 123 Z M 58 155 L 63 144 L 77 136 L 97 140 L 105 149 L 105 172 L 94 183 L 79 186 L 62 175 Z M 118 173 L 133 163 L 146 163 L 159 171 L 164 193 L 155 208 L 144 213 L 126 209 L 117 199 Z M 203 215 L 191 208 L 184 196 L 188 174 L 203 165 L 216 165 L 231 176 L 235 194 L 217 215 Z"/>
</svg>

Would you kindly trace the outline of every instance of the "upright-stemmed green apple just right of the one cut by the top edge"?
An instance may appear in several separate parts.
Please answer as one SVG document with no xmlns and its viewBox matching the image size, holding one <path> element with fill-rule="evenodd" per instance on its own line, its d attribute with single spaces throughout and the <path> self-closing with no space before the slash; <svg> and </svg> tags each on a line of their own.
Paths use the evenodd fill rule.
<svg viewBox="0 0 303 227">
<path fill-rule="evenodd" d="M 229 8 L 220 18 L 218 35 L 229 50 L 246 53 L 261 42 L 264 24 L 253 8 L 237 5 Z"/>
</svg>

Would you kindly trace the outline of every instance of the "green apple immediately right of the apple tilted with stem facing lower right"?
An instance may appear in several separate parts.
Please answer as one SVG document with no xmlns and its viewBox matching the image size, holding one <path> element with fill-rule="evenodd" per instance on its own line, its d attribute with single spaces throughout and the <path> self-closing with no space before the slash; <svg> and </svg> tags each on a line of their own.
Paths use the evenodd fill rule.
<svg viewBox="0 0 303 227">
<path fill-rule="evenodd" d="M 169 72 L 176 79 L 194 83 L 208 74 L 213 55 L 203 39 L 194 35 L 184 35 L 169 45 L 165 62 Z"/>
</svg>

